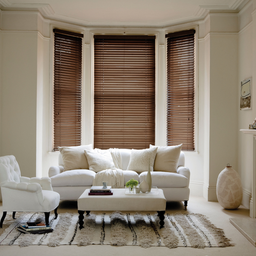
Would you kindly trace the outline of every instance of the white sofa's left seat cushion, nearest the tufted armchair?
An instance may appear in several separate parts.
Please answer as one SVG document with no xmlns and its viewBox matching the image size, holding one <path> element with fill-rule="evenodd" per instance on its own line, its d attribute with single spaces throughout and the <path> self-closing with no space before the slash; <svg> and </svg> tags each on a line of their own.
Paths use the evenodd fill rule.
<svg viewBox="0 0 256 256">
<path fill-rule="evenodd" d="M 62 172 L 51 178 L 52 186 L 92 186 L 95 174 L 93 171 L 82 169 Z"/>
</svg>

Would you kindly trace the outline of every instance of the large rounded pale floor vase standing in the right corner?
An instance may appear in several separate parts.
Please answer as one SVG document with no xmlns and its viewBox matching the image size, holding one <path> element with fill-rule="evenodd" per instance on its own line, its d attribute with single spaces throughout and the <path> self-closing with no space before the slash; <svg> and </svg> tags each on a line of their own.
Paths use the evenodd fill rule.
<svg viewBox="0 0 256 256">
<path fill-rule="evenodd" d="M 219 204 L 225 209 L 237 209 L 242 203 L 243 188 L 241 178 L 229 164 L 219 174 L 217 198 Z"/>
</svg>

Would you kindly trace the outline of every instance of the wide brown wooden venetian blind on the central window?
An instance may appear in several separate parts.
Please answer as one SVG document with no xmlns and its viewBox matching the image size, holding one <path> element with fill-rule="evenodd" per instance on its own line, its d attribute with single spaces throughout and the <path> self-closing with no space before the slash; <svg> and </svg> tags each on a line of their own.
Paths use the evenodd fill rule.
<svg viewBox="0 0 256 256">
<path fill-rule="evenodd" d="M 94 148 L 155 143 L 155 36 L 94 36 Z"/>
</svg>

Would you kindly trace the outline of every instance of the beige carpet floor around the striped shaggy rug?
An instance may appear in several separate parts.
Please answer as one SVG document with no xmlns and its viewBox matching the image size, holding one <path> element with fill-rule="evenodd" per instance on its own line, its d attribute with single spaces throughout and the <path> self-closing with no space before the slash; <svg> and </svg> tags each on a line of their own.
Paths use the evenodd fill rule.
<svg viewBox="0 0 256 256">
<path fill-rule="evenodd" d="M 58 212 L 77 212 L 76 202 L 61 202 Z M 168 202 L 166 205 L 166 213 L 181 212 L 183 204 L 180 202 Z M 225 210 L 217 202 L 207 202 L 203 197 L 191 196 L 188 202 L 188 213 L 202 213 L 209 217 L 209 220 L 217 227 L 222 228 L 234 247 L 225 248 L 205 248 L 193 249 L 178 247 L 176 249 L 168 249 L 166 247 L 150 247 L 148 249 L 139 246 L 111 246 L 111 245 L 89 245 L 78 247 L 76 245 L 62 245 L 58 247 L 36 246 L 29 247 L 19 246 L 0 246 L 0 255 L 189 255 L 189 256 L 210 256 L 210 255 L 227 255 L 227 256 L 254 256 L 256 255 L 256 247 L 254 247 L 231 223 L 229 218 L 250 218 L 249 210 L 240 206 L 237 210 Z M 2 203 L 0 202 L 0 215 L 2 217 Z"/>
</svg>

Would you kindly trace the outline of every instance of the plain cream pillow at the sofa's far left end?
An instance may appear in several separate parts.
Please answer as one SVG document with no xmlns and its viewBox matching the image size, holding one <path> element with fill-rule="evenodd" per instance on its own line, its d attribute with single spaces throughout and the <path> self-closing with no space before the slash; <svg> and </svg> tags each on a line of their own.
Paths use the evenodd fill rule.
<svg viewBox="0 0 256 256">
<path fill-rule="evenodd" d="M 64 163 L 64 171 L 89 169 L 84 150 L 92 150 L 92 144 L 77 147 L 58 147 Z"/>
</svg>

